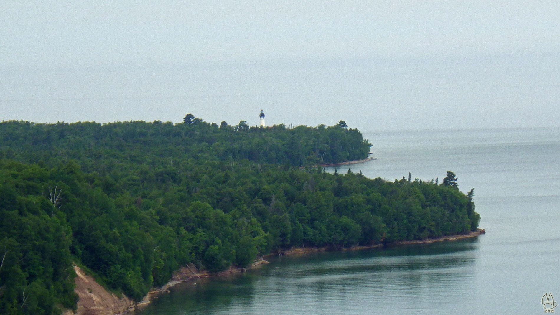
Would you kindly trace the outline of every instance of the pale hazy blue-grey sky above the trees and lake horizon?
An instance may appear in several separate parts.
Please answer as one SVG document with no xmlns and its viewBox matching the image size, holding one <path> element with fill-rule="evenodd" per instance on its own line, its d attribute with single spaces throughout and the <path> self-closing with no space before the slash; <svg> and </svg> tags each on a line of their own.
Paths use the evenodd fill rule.
<svg viewBox="0 0 560 315">
<path fill-rule="evenodd" d="M 0 119 L 560 126 L 558 1 L 3 1 Z"/>
</svg>

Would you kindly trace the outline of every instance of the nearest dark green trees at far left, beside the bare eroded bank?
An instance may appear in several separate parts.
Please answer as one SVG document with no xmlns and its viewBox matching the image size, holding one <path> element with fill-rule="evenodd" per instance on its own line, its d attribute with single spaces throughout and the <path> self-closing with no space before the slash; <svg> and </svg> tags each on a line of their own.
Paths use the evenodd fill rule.
<svg viewBox="0 0 560 315">
<path fill-rule="evenodd" d="M 57 314 L 73 308 L 71 229 L 45 198 L 55 176 L 0 164 L 0 313 Z"/>
</svg>

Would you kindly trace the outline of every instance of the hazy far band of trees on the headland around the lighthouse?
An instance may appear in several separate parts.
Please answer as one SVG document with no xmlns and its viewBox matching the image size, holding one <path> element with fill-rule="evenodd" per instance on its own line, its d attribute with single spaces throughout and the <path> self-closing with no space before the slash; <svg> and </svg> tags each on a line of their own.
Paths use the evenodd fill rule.
<svg viewBox="0 0 560 315">
<path fill-rule="evenodd" d="M 344 121 L 315 128 L 283 124 L 270 128 L 249 127 L 245 121 L 218 126 L 195 118 L 189 123 L 154 121 L 122 123 L 36 124 L 7 121 L 0 124 L 0 158 L 19 161 L 77 159 L 82 167 L 105 165 L 104 160 L 146 163 L 161 157 L 197 160 L 278 163 L 305 166 L 338 163 L 367 157 L 371 143 Z M 87 161 L 101 159 L 101 161 Z M 171 160 L 169 160 L 171 161 Z M 168 161 L 168 162 L 169 162 Z"/>
</svg>

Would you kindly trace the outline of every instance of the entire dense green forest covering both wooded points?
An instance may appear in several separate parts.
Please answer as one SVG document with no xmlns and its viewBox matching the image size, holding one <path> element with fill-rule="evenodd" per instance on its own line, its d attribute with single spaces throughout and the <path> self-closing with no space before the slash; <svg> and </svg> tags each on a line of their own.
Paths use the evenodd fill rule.
<svg viewBox="0 0 560 315">
<path fill-rule="evenodd" d="M 0 313 L 75 308 L 72 266 L 134 300 L 187 263 L 247 266 L 290 247 L 372 245 L 478 227 L 455 174 L 385 181 L 321 163 L 368 156 L 344 121 L 315 128 L 0 123 Z"/>
</svg>

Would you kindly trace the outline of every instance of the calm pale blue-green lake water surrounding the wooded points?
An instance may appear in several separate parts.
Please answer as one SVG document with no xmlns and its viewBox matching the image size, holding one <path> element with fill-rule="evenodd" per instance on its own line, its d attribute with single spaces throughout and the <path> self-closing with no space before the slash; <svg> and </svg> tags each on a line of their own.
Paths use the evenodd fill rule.
<svg viewBox="0 0 560 315">
<path fill-rule="evenodd" d="M 245 274 L 175 286 L 136 314 L 540 314 L 545 293 L 560 302 L 559 129 L 364 135 L 378 159 L 352 171 L 440 182 L 453 171 L 463 192 L 474 187 L 486 234 L 276 257 Z"/>
</svg>

